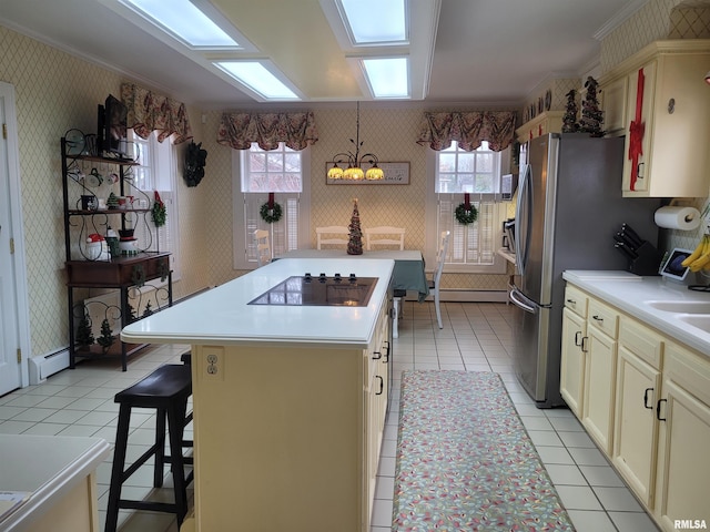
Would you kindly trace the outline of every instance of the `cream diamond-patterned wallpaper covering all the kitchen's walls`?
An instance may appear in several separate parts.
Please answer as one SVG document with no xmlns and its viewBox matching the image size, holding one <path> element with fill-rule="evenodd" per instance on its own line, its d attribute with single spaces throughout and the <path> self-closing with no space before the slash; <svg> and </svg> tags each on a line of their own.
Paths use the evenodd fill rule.
<svg viewBox="0 0 710 532">
<path fill-rule="evenodd" d="M 648 42 L 667 37 L 708 37 L 707 2 L 650 0 L 601 42 L 602 71 Z M 674 9 L 677 8 L 677 9 Z M 0 27 L 0 78 L 14 85 L 19 126 L 22 209 L 30 299 L 32 355 L 67 345 L 67 290 L 63 279 L 63 228 L 59 139 L 71 127 L 93 131 L 95 105 L 118 93 L 121 74 Z M 130 80 L 129 80 L 130 81 Z M 578 80 L 551 80 L 552 109 Z M 446 109 L 446 108 L 444 108 Z M 432 109 L 440 110 L 440 109 Z M 423 109 L 363 104 L 361 139 L 383 161 L 408 161 L 407 186 L 333 186 L 325 184 L 325 162 L 348 147 L 355 133 L 355 106 L 314 109 L 320 141 L 312 150 L 311 225 L 346 224 L 351 198 L 358 197 L 363 225 L 404 225 L 407 247 L 424 246 L 426 147 L 414 142 Z M 215 142 L 221 112 L 190 109 L 195 141 L 207 150 L 205 178 L 199 187 L 180 185 L 182 279 L 175 297 L 225 283 L 242 272 L 232 268 L 232 153 Z M 204 121 L 203 121 L 204 119 Z M 707 198 L 698 200 L 702 208 Z M 510 208 L 510 207 L 509 207 Z M 694 247 L 699 235 L 670 232 L 670 244 Z M 315 237 L 314 237 L 315 238 Z M 506 275 L 445 275 L 445 288 L 506 288 Z"/>
</svg>

